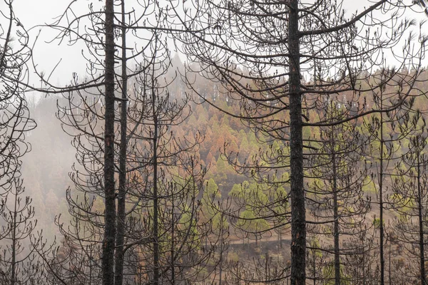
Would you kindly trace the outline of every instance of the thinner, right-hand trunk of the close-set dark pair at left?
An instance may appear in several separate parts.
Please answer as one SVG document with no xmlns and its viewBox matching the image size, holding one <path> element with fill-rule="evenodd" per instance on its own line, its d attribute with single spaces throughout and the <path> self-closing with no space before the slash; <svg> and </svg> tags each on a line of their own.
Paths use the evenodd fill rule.
<svg viewBox="0 0 428 285">
<path fill-rule="evenodd" d="M 121 1 L 122 10 L 122 102 L 121 102 L 121 148 L 119 150 L 119 192 L 118 192 L 118 217 L 116 236 L 116 278 L 115 285 L 123 284 L 123 243 L 125 241 L 125 201 L 126 201 L 126 128 L 127 128 L 127 102 L 128 98 L 128 75 L 126 73 L 126 28 L 125 28 L 125 0 Z"/>
</svg>

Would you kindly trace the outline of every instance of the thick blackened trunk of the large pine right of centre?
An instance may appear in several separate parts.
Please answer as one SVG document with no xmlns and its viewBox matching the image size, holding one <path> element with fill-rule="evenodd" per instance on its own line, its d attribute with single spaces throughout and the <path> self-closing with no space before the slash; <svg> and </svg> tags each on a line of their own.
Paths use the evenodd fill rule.
<svg viewBox="0 0 428 285">
<path fill-rule="evenodd" d="M 297 0 L 290 0 L 288 52 L 290 64 L 290 181 L 291 181 L 291 285 L 305 285 L 306 213 L 303 191 L 302 95 Z"/>
</svg>

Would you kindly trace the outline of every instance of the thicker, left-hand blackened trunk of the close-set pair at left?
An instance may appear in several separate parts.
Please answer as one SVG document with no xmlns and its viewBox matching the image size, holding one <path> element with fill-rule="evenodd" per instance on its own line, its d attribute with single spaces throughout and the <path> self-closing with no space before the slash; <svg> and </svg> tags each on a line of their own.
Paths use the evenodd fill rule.
<svg viewBox="0 0 428 285">
<path fill-rule="evenodd" d="M 116 237 L 116 197 L 114 185 L 114 6 L 106 0 L 106 110 L 104 133 L 104 196 L 106 203 L 101 271 L 103 285 L 114 279 L 114 246 Z"/>
</svg>

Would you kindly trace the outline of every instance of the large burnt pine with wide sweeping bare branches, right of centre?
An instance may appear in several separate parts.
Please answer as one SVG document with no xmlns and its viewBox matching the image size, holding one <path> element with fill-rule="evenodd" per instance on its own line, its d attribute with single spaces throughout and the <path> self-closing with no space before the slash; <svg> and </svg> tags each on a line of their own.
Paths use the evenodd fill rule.
<svg viewBox="0 0 428 285">
<path fill-rule="evenodd" d="M 412 92 L 422 72 L 420 59 L 424 56 L 426 39 L 408 33 L 415 21 L 394 18 L 396 21 L 391 26 L 389 20 L 377 17 L 382 13 L 403 14 L 409 7 L 402 1 L 375 1 L 355 14 L 346 14 L 342 1 L 305 4 L 299 0 L 263 3 L 206 0 L 183 5 L 173 1 L 171 5 L 175 17 L 169 20 L 183 30 L 178 34 L 178 39 L 185 43 L 183 52 L 199 63 L 194 71 L 220 83 L 229 102 L 235 100 L 240 105 L 240 113 L 229 115 L 241 118 L 257 133 L 290 147 L 289 162 L 277 165 L 290 172 L 291 284 L 305 284 L 302 130 L 397 108 Z M 382 32 L 385 28 L 391 31 L 386 36 Z M 417 48 L 410 48 L 413 43 Z M 387 62 L 386 51 L 392 53 L 388 58 L 395 57 L 397 61 Z M 362 84 L 370 81 L 368 74 L 393 64 L 410 64 L 414 68 L 414 73 L 405 75 L 399 73 L 401 68 L 392 68 L 384 79 L 402 84 L 398 100 L 384 105 L 383 110 L 365 105 L 362 93 L 382 86 Z M 309 83 L 303 80 L 316 72 L 322 75 L 319 80 Z M 192 82 L 191 77 L 188 82 Z M 314 101 L 307 96 L 310 93 L 339 94 L 338 103 L 352 108 L 345 118 L 329 122 L 310 120 L 307 110 L 315 108 Z M 218 107 L 216 102 L 208 103 Z M 277 158 L 277 162 L 285 161 L 280 156 Z M 254 166 L 256 171 L 263 168 Z"/>
</svg>

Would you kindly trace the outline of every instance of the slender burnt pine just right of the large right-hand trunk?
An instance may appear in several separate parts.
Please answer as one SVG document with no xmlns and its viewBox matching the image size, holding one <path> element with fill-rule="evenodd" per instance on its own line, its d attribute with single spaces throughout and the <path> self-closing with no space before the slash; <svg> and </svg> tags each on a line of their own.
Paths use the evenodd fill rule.
<svg viewBox="0 0 428 285">
<path fill-rule="evenodd" d="M 318 104 L 321 107 L 320 120 L 340 119 L 342 108 L 335 100 L 320 95 Z M 308 179 L 306 199 L 308 213 L 314 223 L 308 217 L 307 231 L 320 240 L 332 237 L 332 247 L 317 247 L 315 250 L 320 250 L 325 256 L 332 254 L 332 262 L 323 270 L 327 271 L 326 281 L 334 284 L 353 281 L 344 274 L 345 268 L 352 266 L 345 263 L 344 257 L 361 252 L 346 247 L 344 242 L 368 230 L 365 222 L 366 214 L 370 212 L 370 200 L 362 191 L 368 166 L 361 155 L 367 142 L 356 123 L 320 128 L 320 138 L 314 136 L 311 139 L 313 149 L 308 155 L 311 179 Z"/>
</svg>

